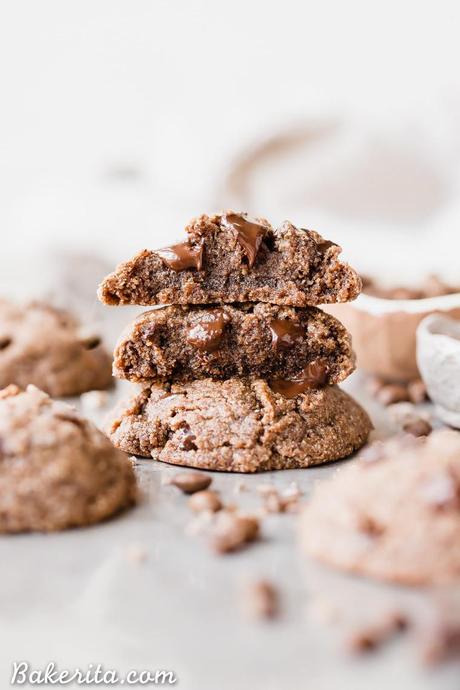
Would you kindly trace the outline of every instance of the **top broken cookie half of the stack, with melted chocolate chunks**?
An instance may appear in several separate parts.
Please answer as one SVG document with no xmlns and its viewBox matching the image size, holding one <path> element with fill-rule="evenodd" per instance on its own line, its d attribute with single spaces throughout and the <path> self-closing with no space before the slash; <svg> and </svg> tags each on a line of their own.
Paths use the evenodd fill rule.
<svg viewBox="0 0 460 690">
<path fill-rule="evenodd" d="M 341 248 L 313 230 L 232 211 L 192 221 L 188 239 L 145 249 L 120 264 L 99 288 L 105 304 L 270 302 L 305 307 L 348 302 L 361 279 L 339 261 Z"/>
</svg>

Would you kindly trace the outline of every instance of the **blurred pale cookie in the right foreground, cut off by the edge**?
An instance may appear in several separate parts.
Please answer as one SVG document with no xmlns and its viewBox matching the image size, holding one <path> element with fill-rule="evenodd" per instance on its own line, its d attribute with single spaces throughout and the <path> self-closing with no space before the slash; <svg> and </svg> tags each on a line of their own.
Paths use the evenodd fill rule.
<svg viewBox="0 0 460 690">
<path fill-rule="evenodd" d="M 301 518 L 306 552 L 404 585 L 460 579 L 460 434 L 369 446 L 318 486 Z"/>
</svg>

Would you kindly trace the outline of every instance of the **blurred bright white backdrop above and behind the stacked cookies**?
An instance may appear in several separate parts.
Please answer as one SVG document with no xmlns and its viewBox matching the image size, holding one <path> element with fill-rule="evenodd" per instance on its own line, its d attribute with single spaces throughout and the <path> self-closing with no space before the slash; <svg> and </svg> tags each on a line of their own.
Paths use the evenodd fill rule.
<svg viewBox="0 0 460 690">
<path fill-rule="evenodd" d="M 455 271 L 459 15 L 455 1 L 3 0 L 0 288 L 33 275 L 39 289 L 48 247 L 112 265 L 166 242 L 234 204 L 225 180 L 248 147 L 331 118 L 337 139 L 256 166 L 248 210 L 316 227 L 358 268 L 396 262 L 404 279 L 447 256 Z"/>
</svg>

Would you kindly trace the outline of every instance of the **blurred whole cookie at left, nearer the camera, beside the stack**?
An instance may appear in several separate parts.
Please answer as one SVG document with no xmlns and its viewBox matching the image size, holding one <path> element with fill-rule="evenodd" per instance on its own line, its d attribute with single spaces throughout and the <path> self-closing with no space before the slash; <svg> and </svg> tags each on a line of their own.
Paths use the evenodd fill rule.
<svg viewBox="0 0 460 690">
<path fill-rule="evenodd" d="M 0 533 L 90 525 L 136 493 L 128 458 L 73 407 L 35 386 L 0 391 Z"/>
</svg>

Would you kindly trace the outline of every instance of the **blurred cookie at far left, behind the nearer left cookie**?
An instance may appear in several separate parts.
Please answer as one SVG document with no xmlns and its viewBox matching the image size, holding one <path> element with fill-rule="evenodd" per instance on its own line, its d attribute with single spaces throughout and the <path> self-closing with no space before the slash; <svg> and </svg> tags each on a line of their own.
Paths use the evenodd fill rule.
<svg viewBox="0 0 460 690">
<path fill-rule="evenodd" d="M 0 388 L 33 384 L 53 396 L 112 384 L 110 355 L 99 336 L 68 312 L 33 302 L 0 301 Z"/>
</svg>

